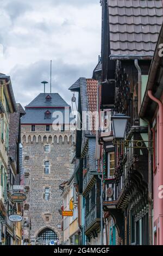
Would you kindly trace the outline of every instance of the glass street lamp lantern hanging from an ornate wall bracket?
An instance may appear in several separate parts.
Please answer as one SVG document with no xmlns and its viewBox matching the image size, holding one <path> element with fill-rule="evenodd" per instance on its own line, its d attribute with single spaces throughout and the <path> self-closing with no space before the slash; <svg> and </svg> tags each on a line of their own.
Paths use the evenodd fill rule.
<svg viewBox="0 0 163 256">
<path fill-rule="evenodd" d="M 129 117 L 124 114 L 115 114 L 111 117 L 112 130 L 115 139 L 124 139 Z"/>
</svg>

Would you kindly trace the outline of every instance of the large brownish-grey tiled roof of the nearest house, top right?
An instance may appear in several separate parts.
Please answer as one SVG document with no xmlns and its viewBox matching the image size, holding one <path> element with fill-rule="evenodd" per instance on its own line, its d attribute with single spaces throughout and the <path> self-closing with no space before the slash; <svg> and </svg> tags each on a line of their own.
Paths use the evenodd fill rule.
<svg viewBox="0 0 163 256">
<path fill-rule="evenodd" d="M 110 58 L 152 58 L 162 25 L 162 0 L 108 0 Z"/>
</svg>

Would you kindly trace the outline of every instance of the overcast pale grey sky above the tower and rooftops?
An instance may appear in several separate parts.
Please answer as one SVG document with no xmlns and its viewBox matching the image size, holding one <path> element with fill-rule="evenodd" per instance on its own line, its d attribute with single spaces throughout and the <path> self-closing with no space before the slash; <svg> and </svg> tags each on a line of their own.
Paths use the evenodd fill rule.
<svg viewBox="0 0 163 256">
<path fill-rule="evenodd" d="M 67 89 L 92 77 L 101 53 L 99 0 L 0 0 L 0 6 L 0 72 L 10 75 L 16 102 L 25 106 L 43 92 L 52 59 L 52 92 L 70 103 Z"/>
</svg>

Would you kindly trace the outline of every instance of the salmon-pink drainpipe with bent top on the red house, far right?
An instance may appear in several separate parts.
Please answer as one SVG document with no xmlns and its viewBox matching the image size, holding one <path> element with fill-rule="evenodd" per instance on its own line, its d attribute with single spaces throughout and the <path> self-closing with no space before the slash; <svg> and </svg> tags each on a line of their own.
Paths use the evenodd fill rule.
<svg viewBox="0 0 163 256">
<path fill-rule="evenodd" d="M 152 95 L 152 90 L 148 90 L 148 96 L 151 100 L 158 103 L 159 105 L 159 187 L 163 185 L 162 175 L 163 175 L 163 161 L 162 161 L 162 152 L 163 152 L 163 104 L 160 100 L 156 99 Z M 159 193 L 158 187 L 158 193 Z M 162 198 L 159 198 L 159 245 L 163 245 L 163 204 Z"/>
</svg>

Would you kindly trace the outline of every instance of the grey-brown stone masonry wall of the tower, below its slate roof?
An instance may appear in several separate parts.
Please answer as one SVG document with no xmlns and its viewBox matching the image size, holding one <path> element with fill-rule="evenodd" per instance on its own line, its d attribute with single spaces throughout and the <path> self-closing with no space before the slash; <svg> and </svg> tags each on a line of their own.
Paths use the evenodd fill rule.
<svg viewBox="0 0 163 256">
<path fill-rule="evenodd" d="M 31 220 L 31 230 L 29 228 L 24 230 L 25 238 L 30 235 L 30 239 L 36 239 L 39 232 L 48 227 L 55 231 L 61 243 L 62 231 L 59 224 L 62 217 L 59 210 L 62 199 L 59 185 L 70 178 L 71 131 L 46 132 L 45 126 L 37 125 L 36 131 L 31 132 L 30 127 L 30 125 L 21 125 L 24 185 L 27 194 L 24 215 L 27 221 Z M 49 152 L 45 151 L 46 144 L 50 144 Z M 50 164 L 49 174 L 44 173 L 45 161 L 49 161 Z M 48 201 L 43 199 L 45 187 L 49 187 L 50 191 Z M 29 210 L 26 210 L 28 203 Z"/>
</svg>

